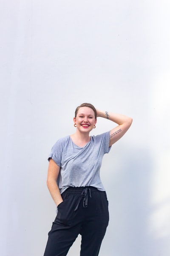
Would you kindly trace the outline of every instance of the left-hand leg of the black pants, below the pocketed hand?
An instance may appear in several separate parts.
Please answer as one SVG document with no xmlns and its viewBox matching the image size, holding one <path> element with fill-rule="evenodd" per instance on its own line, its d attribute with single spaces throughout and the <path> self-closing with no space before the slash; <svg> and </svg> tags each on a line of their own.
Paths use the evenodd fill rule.
<svg viewBox="0 0 170 256">
<path fill-rule="evenodd" d="M 48 233 L 44 256 L 66 256 L 80 232 L 81 224 L 77 222 L 77 212 L 74 211 L 79 195 L 64 192 L 62 198 L 64 201 L 59 204 L 57 217 Z"/>
</svg>

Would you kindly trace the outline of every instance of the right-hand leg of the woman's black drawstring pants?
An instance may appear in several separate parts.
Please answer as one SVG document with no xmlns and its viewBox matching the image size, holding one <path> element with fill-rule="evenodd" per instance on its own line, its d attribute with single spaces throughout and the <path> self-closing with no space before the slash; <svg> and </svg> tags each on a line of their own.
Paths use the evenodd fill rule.
<svg viewBox="0 0 170 256">
<path fill-rule="evenodd" d="M 86 210 L 86 209 L 85 209 Z M 109 221 L 105 191 L 96 191 L 88 201 L 86 220 L 82 224 L 80 256 L 98 256 Z"/>
</svg>

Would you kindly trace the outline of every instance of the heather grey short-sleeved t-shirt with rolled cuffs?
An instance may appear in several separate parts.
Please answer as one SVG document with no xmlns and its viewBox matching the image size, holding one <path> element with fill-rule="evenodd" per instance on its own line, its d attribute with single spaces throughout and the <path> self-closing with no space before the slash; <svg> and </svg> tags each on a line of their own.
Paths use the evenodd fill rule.
<svg viewBox="0 0 170 256">
<path fill-rule="evenodd" d="M 60 167 L 57 184 L 62 194 L 68 187 L 94 186 L 105 191 L 100 179 L 100 167 L 109 147 L 110 132 L 91 136 L 91 140 L 79 147 L 70 136 L 63 137 L 54 144 L 48 160 L 52 158 Z"/>
</svg>

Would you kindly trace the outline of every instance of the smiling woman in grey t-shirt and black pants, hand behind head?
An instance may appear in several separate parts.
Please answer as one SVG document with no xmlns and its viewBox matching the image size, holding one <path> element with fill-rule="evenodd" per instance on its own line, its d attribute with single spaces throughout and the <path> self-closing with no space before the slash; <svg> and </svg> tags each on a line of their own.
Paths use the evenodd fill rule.
<svg viewBox="0 0 170 256">
<path fill-rule="evenodd" d="M 97 136 L 89 136 L 96 128 L 97 117 L 118 124 Z M 99 171 L 102 157 L 128 130 L 132 118 L 99 111 L 89 103 L 77 107 L 74 134 L 55 143 L 48 158 L 47 186 L 57 205 L 57 217 L 44 256 L 65 256 L 80 234 L 80 256 L 97 256 L 108 226 L 109 212 L 105 189 Z M 57 182 L 56 182 L 57 181 Z"/>
</svg>

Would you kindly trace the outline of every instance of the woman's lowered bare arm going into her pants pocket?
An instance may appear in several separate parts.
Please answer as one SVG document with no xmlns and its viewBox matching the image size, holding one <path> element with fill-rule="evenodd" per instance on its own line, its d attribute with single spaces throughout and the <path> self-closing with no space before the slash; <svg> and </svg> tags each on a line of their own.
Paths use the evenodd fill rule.
<svg viewBox="0 0 170 256">
<path fill-rule="evenodd" d="M 60 167 L 54 162 L 53 159 L 49 160 L 47 186 L 55 204 L 58 206 L 63 200 L 57 186 L 57 177 L 59 175 Z"/>
</svg>

